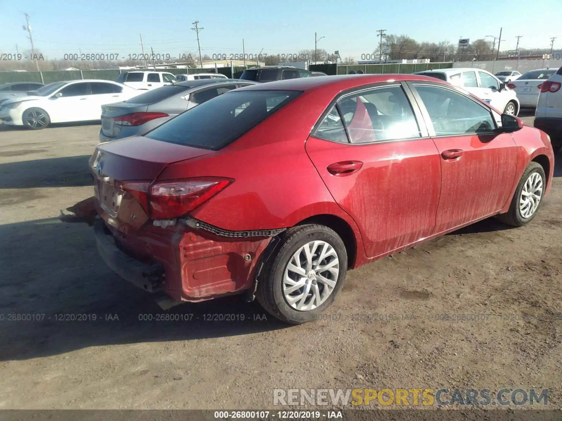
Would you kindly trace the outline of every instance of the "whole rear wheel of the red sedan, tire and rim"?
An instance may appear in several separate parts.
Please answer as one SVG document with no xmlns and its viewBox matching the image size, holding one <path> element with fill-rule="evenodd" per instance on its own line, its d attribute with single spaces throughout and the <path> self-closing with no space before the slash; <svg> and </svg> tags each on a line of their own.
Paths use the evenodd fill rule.
<svg viewBox="0 0 562 421">
<path fill-rule="evenodd" d="M 324 312 L 342 289 L 347 253 L 342 239 L 323 225 L 281 234 L 257 284 L 257 300 L 283 322 L 300 324 Z"/>
</svg>

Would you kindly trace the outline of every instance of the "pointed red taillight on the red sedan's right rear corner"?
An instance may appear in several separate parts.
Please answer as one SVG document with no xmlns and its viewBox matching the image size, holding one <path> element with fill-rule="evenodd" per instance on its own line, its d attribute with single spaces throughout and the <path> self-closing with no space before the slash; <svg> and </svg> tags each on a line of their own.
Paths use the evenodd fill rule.
<svg viewBox="0 0 562 421">
<path fill-rule="evenodd" d="M 157 182 L 150 189 L 150 217 L 173 219 L 183 216 L 207 202 L 233 181 L 219 177 L 201 177 Z"/>
</svg>

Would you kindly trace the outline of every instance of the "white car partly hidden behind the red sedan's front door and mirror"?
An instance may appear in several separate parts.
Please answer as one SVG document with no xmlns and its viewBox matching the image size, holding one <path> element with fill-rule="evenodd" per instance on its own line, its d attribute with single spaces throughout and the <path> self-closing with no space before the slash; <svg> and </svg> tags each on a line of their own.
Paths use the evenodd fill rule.
<svg viewBox="0 0 562 421">
<path fill-rule="evenodd" d="M 501 113 L 518 115 L 519 100 L 506 84 L 481 68 L 440 68 L 416 72 L 415 75 L 436 77 L 455 86 L 460 86 L 471 94 L 484 100 Z"/>
</svg>

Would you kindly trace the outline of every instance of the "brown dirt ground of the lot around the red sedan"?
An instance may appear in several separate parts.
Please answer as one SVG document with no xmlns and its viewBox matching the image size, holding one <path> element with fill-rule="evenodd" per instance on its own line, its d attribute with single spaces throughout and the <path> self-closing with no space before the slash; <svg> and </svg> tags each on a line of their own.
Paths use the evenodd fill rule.
<svg viewBox="0 0 562 421">
<path fill-rule="evenodd" d="M 0 127 L 0 409 L 258 409 L 274 388 L 441 386 L 547 388 L 562 406 L 560 163 L 527 227 L 492 218 L 351 271 L 323 321 L 287 327 L 238 298 L 142 321 L 162 313 L 152 297 L 105 266 L 92 228 L 57 219 L 92 194 L 98 130 Z"/>
</svg>

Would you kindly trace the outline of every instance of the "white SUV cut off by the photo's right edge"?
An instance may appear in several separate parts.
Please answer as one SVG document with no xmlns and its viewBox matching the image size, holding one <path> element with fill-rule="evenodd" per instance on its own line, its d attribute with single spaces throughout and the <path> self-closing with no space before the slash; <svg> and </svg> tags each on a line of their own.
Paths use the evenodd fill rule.
<svg viewBox="0 0 562 421">
<path fill-rule="evenodd" d="M 562 67 L 545 80 L 538 95 L 534 126 L 550 136 L 554 153 L 562 149 Z"/>
</svg>

